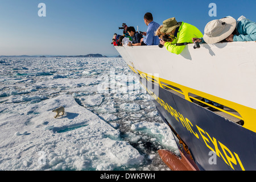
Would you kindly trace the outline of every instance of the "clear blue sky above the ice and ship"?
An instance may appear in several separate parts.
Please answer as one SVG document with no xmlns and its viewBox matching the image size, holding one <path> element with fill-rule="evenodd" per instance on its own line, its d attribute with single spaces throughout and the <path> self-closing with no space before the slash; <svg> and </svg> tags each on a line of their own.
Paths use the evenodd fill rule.
<svg viewBox="0 0 256 182">
<path fill-rule="evenodd" d="M 46 4 L 46 17 L 38 16 L 39 3 Z M 216 3 L 217 16 L 209 16 L 210 3 Z M 146 31 L 147 12 L 159 24 L 175 17 L 204 33 L 210 20 L 227 15 L 256 22 L 255 10 L 255 0 L 1 0 L 0 55 L 118 55 L 113 34 L 122 34 L 122 23 Z"/>
</svg>

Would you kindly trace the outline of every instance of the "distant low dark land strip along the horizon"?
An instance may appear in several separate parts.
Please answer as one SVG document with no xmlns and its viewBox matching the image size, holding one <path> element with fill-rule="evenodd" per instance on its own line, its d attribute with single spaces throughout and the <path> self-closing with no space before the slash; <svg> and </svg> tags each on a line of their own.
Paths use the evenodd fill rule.
<svg viewBox="0 0 256 182">
<path fill-rule="evenodd" d="M 88 55 L 76 55 L 76 56 L 51 56 L 51 55 L 45 55 L 45 56 L 28 56 L 28 55 L 20 55 L 20 56 L 0 56 L 0 57 L 108 57 L 108 56 L 103 56 L 100 53 L 90 53 Z M 112 56 L 111 56 L 112 57 Z M 113 56 L 113 57 L 121 57 L 120 55 L 118 56 Z"/>
</svg>

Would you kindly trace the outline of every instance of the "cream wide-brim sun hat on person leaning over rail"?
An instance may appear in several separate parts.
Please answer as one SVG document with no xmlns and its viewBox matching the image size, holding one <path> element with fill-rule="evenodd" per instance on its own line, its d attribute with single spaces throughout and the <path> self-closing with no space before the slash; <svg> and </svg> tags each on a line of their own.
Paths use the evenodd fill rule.
<svg viewBox="0 0 256 182">
<path fill-rule="evenodd" d="M 214 44 L 228 38 L 235 30 L 236 23 L 237 21 L 233 17 L 210 21 L 204 28 L 204 41 L 208 44 Z"/>
</svg>

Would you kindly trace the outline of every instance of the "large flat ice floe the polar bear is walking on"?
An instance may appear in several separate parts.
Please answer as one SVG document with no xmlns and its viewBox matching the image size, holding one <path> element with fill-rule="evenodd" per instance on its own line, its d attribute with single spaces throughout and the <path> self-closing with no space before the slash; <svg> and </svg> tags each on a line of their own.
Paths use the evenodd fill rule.
<svg viewBox="0 0 256 182">
<path fill-rule="evenodd" d="M 13 113 L 1 116 L 1 170 L 107 170 L 143 162 L 144 157 L 135 148 L 119 140 L 118 130 L 79 106 L 72 96 L 62 95 L 31 105 L 36 115 L 19 115 L 28 110 L 26 105 L 11 104 L 7 109 L 12 108 Z M 59 105 L 65 107 L 65 114 L 55 119 L 51 110 Z M 42 124 L 46 121 L 47 130 Z M 77 130 L 57 133 L 85 124 Z M 39 163 L 43 157 L 40 151 L 45 154 L 44 165 Z"/>
</svg>

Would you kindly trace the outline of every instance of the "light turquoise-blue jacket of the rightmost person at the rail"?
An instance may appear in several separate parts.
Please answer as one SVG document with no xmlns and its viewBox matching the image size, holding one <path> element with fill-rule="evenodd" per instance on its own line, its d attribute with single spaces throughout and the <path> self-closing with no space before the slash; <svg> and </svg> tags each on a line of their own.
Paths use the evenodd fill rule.
<svg viewBox="0 0 256 182">
<path fill-rule="evenodd" d="M 256 23 L 249 19 L 242 19 L 237 23 L 237 32 L 233 41 L 256 41 Z"/>
</svg>

